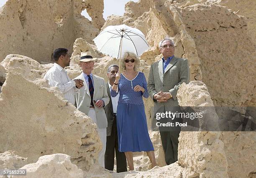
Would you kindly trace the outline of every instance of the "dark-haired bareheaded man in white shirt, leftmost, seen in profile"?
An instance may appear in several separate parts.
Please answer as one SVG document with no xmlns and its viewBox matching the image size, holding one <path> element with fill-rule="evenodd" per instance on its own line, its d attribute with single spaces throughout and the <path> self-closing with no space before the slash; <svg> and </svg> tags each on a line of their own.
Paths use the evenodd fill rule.
<svg viewBox="0 0 256 178">
<path fill-rule="evenodd" d="M 75 104 L 75 91 L 83 86 L 80 79 L 71 80 L 64 69 L 69 66 L 70 55 L 66 48 L 58 48 L 53 53 L 54 66 L 51 67 L 44 79 L 48 80 L 51 87 L 57 87 L 72 105 Z"/>
</svg>

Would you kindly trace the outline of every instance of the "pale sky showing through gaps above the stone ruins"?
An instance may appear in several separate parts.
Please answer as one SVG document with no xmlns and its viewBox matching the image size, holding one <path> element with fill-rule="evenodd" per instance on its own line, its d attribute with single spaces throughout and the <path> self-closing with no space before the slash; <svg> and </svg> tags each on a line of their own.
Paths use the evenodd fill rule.
<svg viewBox="0 0 256 178">
<path fill-rule="evenodd" d="M 2 7 L 7 0 L 0 0 L 0 7 Z M 103 18 L 107 19 L 109 15 L 123 15 L 124 13 L 124 6 L 130 0 L 104 0 L 104 13 Z M 134 2 L 138 2 L 138 0 L 132 0 Z M 82 12 L 84 17 L 91 20 L 89 15 L 87 14 L 86 10 Z"/>
</svg>

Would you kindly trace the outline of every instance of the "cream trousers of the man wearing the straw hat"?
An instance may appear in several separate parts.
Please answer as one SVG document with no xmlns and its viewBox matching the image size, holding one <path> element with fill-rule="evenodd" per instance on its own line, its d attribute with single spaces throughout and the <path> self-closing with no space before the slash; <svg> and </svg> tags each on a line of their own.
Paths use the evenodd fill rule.
<svg viewBox="0 0 256 178">
<path fill-rule="evenodd" d="M 94 108 L 90 108 L 88 116 L 90 116 L 90 118 L 92 118 L 93 122 L 97 124 L 97 120 L 96 120 L 96 113 Z M 100 135 L 100 140 L 102 142 L 102 150 L 99 153 L 99 164 L 100 166 L 102 166 L 104 168 L 105 163 L 104 163 L 104 155 L 105 155 L 105 150 L 106 150 L 106 142 L 107 142 L 107 129 L 106 128 L 98 128 L 97 127 L 97 131 Z"/>
</svg>

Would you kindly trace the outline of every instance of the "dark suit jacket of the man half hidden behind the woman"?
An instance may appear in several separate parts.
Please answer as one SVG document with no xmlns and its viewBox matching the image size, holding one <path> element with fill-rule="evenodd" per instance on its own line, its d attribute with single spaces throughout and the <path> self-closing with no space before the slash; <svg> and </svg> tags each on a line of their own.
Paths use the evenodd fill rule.
<svg viewBox="0 0 256 178">
<path fill-rule="evenodd" d="M 113 113 L 113 105 L 112 105 L 112 99 L 111 99 L 111 95 L 110 95 L 108 82 L 106 83 L 106 87 L 107 87 L 108 97 L 110 98 L 110 101 L 109 101 L 108 105 L 105 106 L 104 109 L 105 109 L 105 113 L 106 113 L 107 120 L 108 120 L 107 136 L 110 136 L 111 131 L 112 131 L 112 126 L 113 126 L 113 121 L 114 121 L 114 113 Z"/>
</svg>

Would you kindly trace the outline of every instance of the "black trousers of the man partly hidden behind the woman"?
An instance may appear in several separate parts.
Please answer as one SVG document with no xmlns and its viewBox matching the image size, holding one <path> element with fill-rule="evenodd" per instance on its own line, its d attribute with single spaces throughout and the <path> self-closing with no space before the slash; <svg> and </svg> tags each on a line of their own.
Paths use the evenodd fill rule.
<svg viewBox="0 0 256 178">
<path fill-rule="evenodd" d="M 116 157 L 116 172 L 127 171 L 126 157 L 124 153 L 118 151 L 118 132 L 116 116 L 113 121 L 111 135 L 107 136 L 106 152 L 105 152 L 105 169 L 114 169 L 114 158 Z"/>
</svg>

